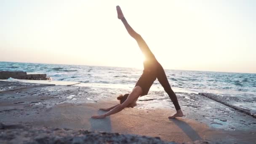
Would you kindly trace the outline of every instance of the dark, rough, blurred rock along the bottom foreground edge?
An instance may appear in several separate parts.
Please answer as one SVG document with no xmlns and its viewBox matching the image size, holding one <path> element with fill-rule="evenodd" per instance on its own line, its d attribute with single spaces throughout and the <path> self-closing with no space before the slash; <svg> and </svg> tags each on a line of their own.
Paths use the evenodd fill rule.
<svg viewBox="0 0 256 144">
<path fill-rule="evenodd" d="M 91 132 L 70 128 L 31 127 L 23 125 L 4 125 L 0 123 L 0 143 L 6 144 L 177 144 L 165 142 L 159 137 L 131 134 Z M 207 142 L 197 141 L 199 144 Z"/>
</svg>

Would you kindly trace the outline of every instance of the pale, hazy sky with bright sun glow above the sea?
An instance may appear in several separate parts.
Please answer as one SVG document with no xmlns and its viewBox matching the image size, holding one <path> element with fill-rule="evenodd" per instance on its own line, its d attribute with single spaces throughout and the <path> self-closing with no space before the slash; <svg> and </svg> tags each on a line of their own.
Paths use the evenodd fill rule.
<svg viewBox="0 0 256 144">
<path fill-rule="evenodd" d="M 256 0 L 0 0 L 0 61 L 256 73 Z"/>
</svg>

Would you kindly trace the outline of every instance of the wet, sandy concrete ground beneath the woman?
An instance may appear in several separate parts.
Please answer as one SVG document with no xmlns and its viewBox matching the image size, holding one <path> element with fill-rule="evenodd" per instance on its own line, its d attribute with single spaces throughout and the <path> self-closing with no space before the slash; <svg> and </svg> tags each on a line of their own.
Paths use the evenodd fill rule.
<svg viewBox="0 0 256 144">
<path fill-rule="evenodd" d="M 175 112 L 171 101 L 163 92 L 151 92 L 139 99 L 138 107 L 95 120 L 92 115 L 104 113 L 99 108 L 117 104 L 115 94 L 127 90 L 75 85 L 27 87 L 0 92 L 0 123 L 129 133 L 178 143 L 256 141 L 255 118 L 195 93 L 176 93 L 185 117 L 168 119 Z M 163 98 L 155 99 L 155 95 Z"/>
</svg>

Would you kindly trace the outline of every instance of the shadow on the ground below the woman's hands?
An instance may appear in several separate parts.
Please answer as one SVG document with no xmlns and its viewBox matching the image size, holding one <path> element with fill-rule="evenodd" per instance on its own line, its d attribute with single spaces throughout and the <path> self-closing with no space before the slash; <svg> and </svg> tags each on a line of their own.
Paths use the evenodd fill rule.
<svg viewBox="0 0 256 144">
<path fill-rule="evenodd" d="M 103 115 L 105 112 L 98 110 L 98 115 Z M 104 119 L 93 119 L 90 118 L 91 131 L 105 131 L 112 132 L 110 117 L 105 117 Z"/>
</svg>

